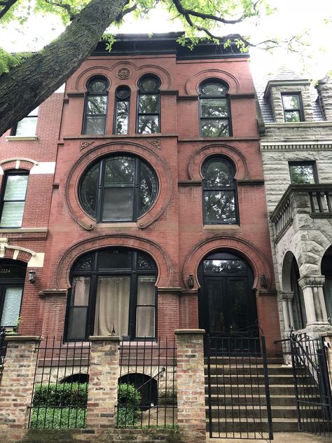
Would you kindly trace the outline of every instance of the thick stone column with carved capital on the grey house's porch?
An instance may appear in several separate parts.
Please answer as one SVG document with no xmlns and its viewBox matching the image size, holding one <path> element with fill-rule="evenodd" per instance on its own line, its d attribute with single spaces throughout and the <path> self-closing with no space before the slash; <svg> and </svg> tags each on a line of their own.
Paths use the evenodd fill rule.
<svg viewBox="0 0 332 443">
<path fill-rule="evenodd" d="M 311 275 L 298 280 L 298 284 L 303 289 L 303 296 L 305 299 L 307 327 L 323 326 L 328 327 L 328 329 L 330 328 L 324 301 L 324 282 L 324 275 Z"/>
</svg>

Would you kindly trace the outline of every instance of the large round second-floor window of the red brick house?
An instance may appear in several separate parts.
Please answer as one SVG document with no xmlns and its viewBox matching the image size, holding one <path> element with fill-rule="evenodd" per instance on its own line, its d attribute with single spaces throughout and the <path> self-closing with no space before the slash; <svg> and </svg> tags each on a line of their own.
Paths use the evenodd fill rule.
<svg viewBox="0 0 332 443">
<path fill-rule="evenodd" d="M 155 200 L 158 181 L 139 157 L 111 156 L 90 167 L 81 179 L 83 208 L 97 221 L 134 221 Z"/>
</svg>

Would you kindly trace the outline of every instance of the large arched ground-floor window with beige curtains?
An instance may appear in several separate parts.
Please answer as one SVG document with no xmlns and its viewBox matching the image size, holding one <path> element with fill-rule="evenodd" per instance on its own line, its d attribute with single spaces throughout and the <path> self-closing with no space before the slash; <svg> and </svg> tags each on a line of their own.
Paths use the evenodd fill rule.
<svg viewBox="0 0 332 443">
<path fill-rule="evenodd" d="M 137 250 L 108 248 L 78 259 L 71 271 L 67 339 L 154 337 L 156 278 L 153 259 Z"/>
</svg>

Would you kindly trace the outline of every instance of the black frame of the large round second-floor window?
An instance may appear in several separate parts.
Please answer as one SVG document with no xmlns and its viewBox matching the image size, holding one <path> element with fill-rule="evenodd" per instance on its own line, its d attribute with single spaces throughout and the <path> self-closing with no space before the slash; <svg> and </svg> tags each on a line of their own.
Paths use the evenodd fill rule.
<svg viewBox="0 0 332 443">
<path fill-rule="evenodd" d="M 102 219 L 102 210 L 104 207 L 104 189 L 107 188 L 111 188 L 111 187 L 118 187 L 119 189 L 122 188 L 123 186 L 105 186 L 104 185 L 104 174 L 105 174 L 105 168 L 106 168 L 106 162 L 109 161 L 111 158 L 128 158 L 130 160 L 134 161 L 134 181 L 132 187 L 134 189 L 134 194 L 133 194 L 133 204 L 132 204 L 132 218 L 124 218 L 124 219 L 106 219 L 103 220 Z M 96 165 L 99 164 L 99 175 L 98 175 L 98 183 L 97 183 L 97 201 L 96 201 L 96 211 L 95 211 L 95 217 L 93 217 L 93 214 L 91 214 L 91 212 L 89 212 L 86 207 L 85 207 L 85 203 L 83 201 L 82 198 L 82 194 L 81 194 L 81 189 L 82 189 L 82 184 L 84 182 L 85 177 L 87 177 L 88 172 L 92 169 L 94 169 L 96 167 Z M 153 199 L 151 199 L 151 203 L 148 205 L 148 207 L 146 208 L 146 210 L 144 212 L 142 212 L 142 210 L 144 208 L 140 207 L 140 191 L 141 191 L 141 177 L 140 177 L 140 172 L 141 172 L 141 165 L 145 165 L 148 170 L 150 170 L 151 172 L 151 180 L 155 181 L 155 195 L 153 196 Z M 94 218 L 97 223 L 122 223 L 122 222 L 126 222 L 126 221 L 137 221 L 137 219 L 139 217 L 141 217 L 141 215 L 145 214 L 153 205 L 153 203 L 155 202 L 156 198 L 158 197 L 158 189 L 159 189 L 159 183 L 158 183 L 158 177 L 157 174 L 155 173 L 155 170 L 153 169 L 153 167 L 148 164 L 146 161 L 144 161 L 142 158 L 138 157 L 138 156 L 132 156 L 132 154 L 126 154 L 126 153 L 116 153 L 113 154 L 111 156 L 107 156 L 107 157 L 103 157 L 100 158 L 99 161 L 93 163 L 92 165 L 90 165 L 84 172 L 84 174 L 81 177 L 81 180 L 79 182 L 78 185 L 78 198 L 80 200 L 80 203 L 83 207 L 83 210 L 85 210 L 85 212 L 87 212 L 90 217 Z"/>
</svg>

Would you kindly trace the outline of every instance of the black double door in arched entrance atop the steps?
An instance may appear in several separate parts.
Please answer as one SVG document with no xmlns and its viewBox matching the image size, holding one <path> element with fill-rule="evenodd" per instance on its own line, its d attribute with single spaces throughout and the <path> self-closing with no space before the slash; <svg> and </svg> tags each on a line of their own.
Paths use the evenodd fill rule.
<svg viewBox="0 0 332 443">
<path fill-rule="evenodd" d="M 198 268 L 199 322 L 208 334 L 247 334 L 256 328 L 254 274 L 242 257 L 216 252 Z"/>
</svg>

